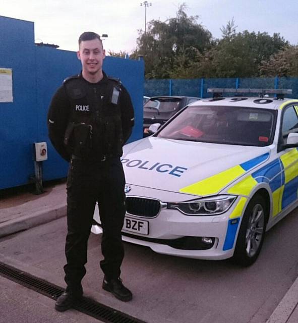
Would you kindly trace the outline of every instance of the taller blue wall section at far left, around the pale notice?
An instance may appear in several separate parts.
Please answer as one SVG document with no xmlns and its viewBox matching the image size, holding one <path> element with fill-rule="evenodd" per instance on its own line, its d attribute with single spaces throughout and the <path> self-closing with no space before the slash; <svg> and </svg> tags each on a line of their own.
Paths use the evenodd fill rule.
<svg viewBox="0 0 298 323">
<path fill-rule="evenodd" d="M 34 24 L 0 17 L 0 68 L 13 69 L 14 102 L 0 103 L 0 188 L 34 174 L 30 143 L 37 132 Z M 26 118 L 25 118 L 26 116 Z"/>
</svg>

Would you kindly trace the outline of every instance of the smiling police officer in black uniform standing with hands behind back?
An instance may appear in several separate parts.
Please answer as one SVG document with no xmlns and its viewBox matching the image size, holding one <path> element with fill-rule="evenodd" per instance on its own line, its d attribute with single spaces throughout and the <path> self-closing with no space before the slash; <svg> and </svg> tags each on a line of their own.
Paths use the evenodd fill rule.
<svg viewBox="0 0 298 323">
<path fill-rule="evenodd" d="M 66 79 L 48 111 L 48 130 L 57 152 L 70 161 L 64 266 L 66 291 L 55 308 L 65 311 L 80 300 L 86 273 L 87 241 L 96 201 L 103 229 L 102 288 L 122 301 L 132 299 L 120 278 L 124 257 L 121 230 L 125 216 L 125 177 L 120 157 L 134 125 L 131 98 L 122 83 L 102 70 L 105 50 L 100 36 L 79 38 L 82 72 Z"/>
</svg>

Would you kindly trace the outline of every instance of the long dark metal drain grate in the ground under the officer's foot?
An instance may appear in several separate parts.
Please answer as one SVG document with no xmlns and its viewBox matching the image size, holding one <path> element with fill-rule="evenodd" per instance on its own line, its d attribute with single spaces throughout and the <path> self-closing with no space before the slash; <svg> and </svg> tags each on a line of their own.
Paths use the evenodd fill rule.
<svg viewBox="0 0 298 323">
<path fill-rule="evenodd" d="M 0 262 L 0 275 L 54 300 L 64 292 L 62 287 L 24 273 L 3 262 Z M 146 323 L 86 297 L 75 304 L 74 309 L 106 323 Z"/>
</svg>

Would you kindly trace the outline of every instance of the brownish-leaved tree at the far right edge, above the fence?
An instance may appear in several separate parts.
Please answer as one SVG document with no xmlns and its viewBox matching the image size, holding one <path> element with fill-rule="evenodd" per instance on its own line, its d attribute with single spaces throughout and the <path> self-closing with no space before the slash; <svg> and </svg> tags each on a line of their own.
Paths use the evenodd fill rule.
<svg viewBox="0 0 298 323">
<path fill-rule="evenodd" d="M 298 46 L 285 46 L 268 61 L 262 61 L 260 74 L 267 77 L 298 77 Z"/>
</svg>

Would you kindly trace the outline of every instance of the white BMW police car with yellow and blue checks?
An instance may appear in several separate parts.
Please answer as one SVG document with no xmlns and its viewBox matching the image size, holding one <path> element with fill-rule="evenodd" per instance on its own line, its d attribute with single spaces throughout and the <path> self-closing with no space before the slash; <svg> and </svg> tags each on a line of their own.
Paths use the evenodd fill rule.
<svg viewBox="0 0 298 323">
<path fill-rule="evenodd" d="M 125 145 L 123 240 L 247 266 L 265 232 L 298 205 L 298 99 L 284 97 L 291 90 L 208 92 Z M 101 232 L 98 211 L 92 232 Z"/>
</svg>

